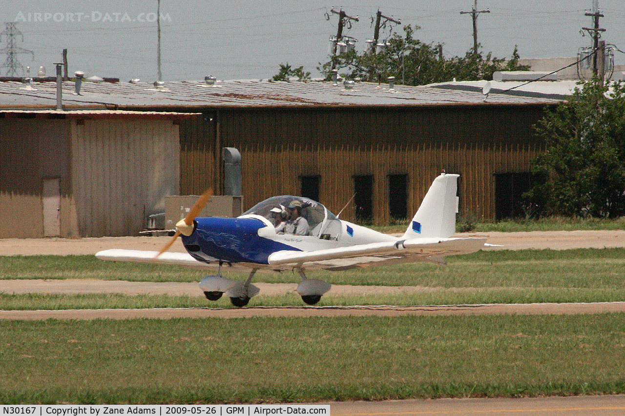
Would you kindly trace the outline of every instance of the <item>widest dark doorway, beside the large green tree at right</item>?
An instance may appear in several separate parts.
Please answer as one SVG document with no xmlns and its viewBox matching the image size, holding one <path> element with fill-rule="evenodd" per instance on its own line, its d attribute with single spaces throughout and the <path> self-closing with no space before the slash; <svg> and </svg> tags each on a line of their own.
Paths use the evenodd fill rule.
<svg viewBox="0 0 625 416">
<path fill-rule="evenodd" d="M 497 221 L 524 217 L 527 203 L 522 195 L 536 183 L 529 172 L 495 174 L 495 216 Z"/>
</svg>

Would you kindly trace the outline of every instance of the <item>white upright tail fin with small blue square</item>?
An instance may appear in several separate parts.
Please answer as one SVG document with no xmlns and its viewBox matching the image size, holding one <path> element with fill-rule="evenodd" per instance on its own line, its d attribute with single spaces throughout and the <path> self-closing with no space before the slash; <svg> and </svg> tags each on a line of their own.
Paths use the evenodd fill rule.
<svg viewBox="0 0 625 416">
<path fill-rule="evenodd" d="M 442 237 L 456 232 L 457 181 L 460 175 L 442 172 L 434 179 L 429 191 L 414 214 L 404 238 Z"/>
</svg>

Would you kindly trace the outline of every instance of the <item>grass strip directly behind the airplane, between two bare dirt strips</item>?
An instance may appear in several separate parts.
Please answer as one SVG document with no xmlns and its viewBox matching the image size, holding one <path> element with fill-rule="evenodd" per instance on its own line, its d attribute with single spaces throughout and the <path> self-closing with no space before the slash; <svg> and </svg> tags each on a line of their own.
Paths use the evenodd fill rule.
<svg viewBox="0 0 625 416">
<path fill-rule="evenodd" d="M 494 250 L 431 263 L 369 267 L 307 276 L 332 284 L 426 287 L 564 287 L 625 289 L 625 248 Z M 199 282 L 207 271 L 171 265 L 104 262 L 93 255 L 0 256 L 0 279 L 102 279 L 133 282 Z M 246 273 L 224 271 L 232 279 Z M 259 273 L 255 281 L 299 282 L 293 272 Z"/>
</svg>

